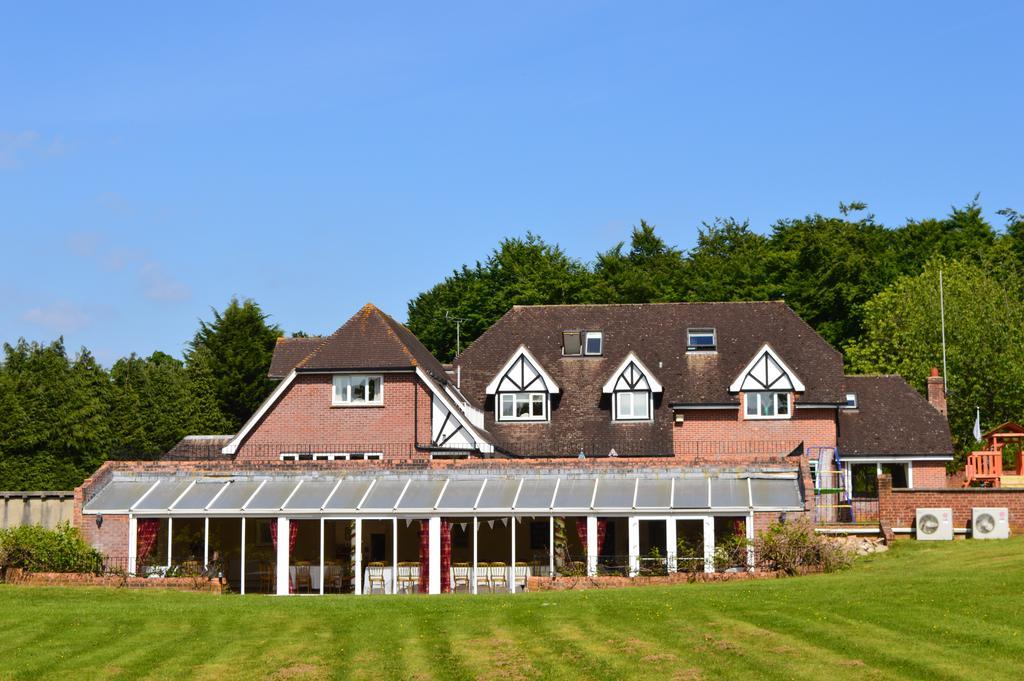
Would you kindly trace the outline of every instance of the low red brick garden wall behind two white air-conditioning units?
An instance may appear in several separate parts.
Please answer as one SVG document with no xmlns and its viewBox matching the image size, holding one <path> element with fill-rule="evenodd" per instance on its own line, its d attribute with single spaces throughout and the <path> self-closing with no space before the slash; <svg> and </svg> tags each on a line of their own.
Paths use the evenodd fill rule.
<svg viewBox="0 0 1024 681">
<path fill-rule="evenodd" d="M 918 483 L 918 467 L 913 470 Z M 971 509 L 996 507 L 1010 509 L 1010 527 L 1024 531 L 1024 488 L 985 490 L 980 487 L 936 487 L 924 490 L 893 490 L 892 477 L 879 477 L 879 519 L 883 527 L 912 527 L 919 508 L 951 508 L 953 527 L 971 524 Z"/>
</svg>

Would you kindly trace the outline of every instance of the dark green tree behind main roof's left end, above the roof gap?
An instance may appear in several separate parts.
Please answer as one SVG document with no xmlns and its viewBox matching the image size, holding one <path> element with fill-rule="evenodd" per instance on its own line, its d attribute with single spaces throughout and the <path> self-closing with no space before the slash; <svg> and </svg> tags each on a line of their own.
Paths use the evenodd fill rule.
<svg viewBox="0 0 1024 681">
<path fill-rule="evenodd" d="M 409 303 L 409 328 L 442 360 L 455 356 L 513 305 L 586 302 L 591 273 L 557 246 L 527 233 L 506 239 L 483 263 L 463 266 Z"/>
</svg>

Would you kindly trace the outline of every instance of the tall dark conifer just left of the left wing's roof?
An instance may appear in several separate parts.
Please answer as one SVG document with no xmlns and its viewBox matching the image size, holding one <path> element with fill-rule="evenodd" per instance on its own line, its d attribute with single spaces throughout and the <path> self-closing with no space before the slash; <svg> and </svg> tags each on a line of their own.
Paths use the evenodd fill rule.
<svg viewBox="0 0 1024 681">
<path fill-rule="evenodd" d="M 217 406 L 238 428 L 273 388 L 266 374 L 282 331 L 267 324 L 268 315 L 253 300 L 232 298 L 222 312 L 212 312 L 212 322 L 200 321 L 185 358 L 205 354 Z"/>
</svg>

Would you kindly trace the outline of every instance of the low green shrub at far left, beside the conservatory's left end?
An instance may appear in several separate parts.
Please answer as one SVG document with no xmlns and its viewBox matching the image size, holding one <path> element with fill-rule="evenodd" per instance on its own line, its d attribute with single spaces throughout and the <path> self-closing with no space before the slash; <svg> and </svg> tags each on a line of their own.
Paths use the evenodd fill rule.
<svg viewBox="0 0 1024 681">
<path fill-rule="evenodd" d="M 61 522 L 55 529 L 26 525 L 0 529 L 0 569 L 31 572 L 99 572 L 102 555 L 89 546 L 78 527 Z"/>
</svg>

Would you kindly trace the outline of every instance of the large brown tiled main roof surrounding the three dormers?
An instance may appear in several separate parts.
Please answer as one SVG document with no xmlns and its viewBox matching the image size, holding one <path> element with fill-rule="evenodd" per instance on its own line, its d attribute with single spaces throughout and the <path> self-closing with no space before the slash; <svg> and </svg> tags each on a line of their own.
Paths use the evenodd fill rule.
<svg viewBox="0 0 1024 681">
<path fill-rule="evenodd" d="M 717 352 L 686 351 L 687 329 L 714 328 Z M 562 332 L 600 331 L 599 357 L 562 356 Z M 455 365 L 462 369 L 462 392 L 483 409 L 486 428 L 505 441 L 623 441 L 670 448 L 672 405 L 737 405 L 729 385 L 768 343 L 803 381 L 809 403 L 840 403 L 843 358 L 781 302 L 658 303 L 636 305 L 538 305 L 512 308 Z M 552 398 L 551 423 L 496 423 L 486 385 L 511 354 L 525 345 L 561 388 Z M 601 386 L 635 352 L 664 386 L 654 396 L 654 419 L 611 421 L 610 395 Z M 492 398 L 493 401 L 493 398 Z"/>
</svg>

